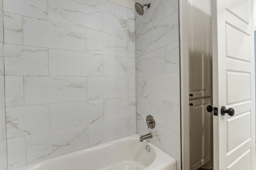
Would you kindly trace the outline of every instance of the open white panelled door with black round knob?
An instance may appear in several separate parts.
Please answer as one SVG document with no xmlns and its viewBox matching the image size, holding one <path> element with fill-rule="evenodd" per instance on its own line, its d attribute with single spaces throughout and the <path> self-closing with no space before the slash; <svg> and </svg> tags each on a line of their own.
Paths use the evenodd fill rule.
<svg viewBox="0 0 256 170">
<path fill-rule="evenodd" d="M 255 170 L 253 0 L 212 0 L 212 32 L 214 170 Z"/>
</svg>

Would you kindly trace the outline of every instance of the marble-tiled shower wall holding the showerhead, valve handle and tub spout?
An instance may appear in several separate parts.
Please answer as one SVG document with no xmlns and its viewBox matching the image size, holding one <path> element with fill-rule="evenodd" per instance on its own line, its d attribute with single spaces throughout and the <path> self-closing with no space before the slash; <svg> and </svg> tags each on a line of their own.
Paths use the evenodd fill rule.
<svg viewBox="0 0 256 170">
<path fill-rule="evenodd" d="M 136 16 L 137 133 L 152 132 L 149 141 L 177 161 L 180 169 L 180 73 L 178 0 L 151 3 Z M 156 121 L 148 129 L 146 116 Z"/>
</svg>

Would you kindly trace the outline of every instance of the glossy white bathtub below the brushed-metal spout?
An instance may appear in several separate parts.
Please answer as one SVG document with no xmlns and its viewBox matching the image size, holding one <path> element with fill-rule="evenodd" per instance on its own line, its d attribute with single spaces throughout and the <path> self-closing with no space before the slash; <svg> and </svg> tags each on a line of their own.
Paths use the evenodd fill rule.
<svg viewBox="0 0 256 170">
<path fill-rule="evenodd" d="M 139 142 L 139 137 L 134 134 L 13 170 L 176 170 L 174 158 L 148 141 Z"/>
</svg>

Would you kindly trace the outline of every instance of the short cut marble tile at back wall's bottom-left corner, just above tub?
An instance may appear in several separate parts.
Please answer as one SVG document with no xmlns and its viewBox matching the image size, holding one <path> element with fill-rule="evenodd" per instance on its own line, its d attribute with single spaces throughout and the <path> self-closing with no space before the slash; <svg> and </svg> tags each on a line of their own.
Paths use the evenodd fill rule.
<svg viewBox="0 0 256 170">
<path fill-rule="evenodd" d="M 7 139 L 8 169 L 26 165 L 25 136 Z"/>
</svg>

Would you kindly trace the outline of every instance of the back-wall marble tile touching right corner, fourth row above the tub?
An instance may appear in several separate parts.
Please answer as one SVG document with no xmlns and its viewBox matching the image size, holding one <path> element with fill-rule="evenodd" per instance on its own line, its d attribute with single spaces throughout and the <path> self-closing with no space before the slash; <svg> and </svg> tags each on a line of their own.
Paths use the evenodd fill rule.
<svg viewBox="0 0 256 170">
<path fill-rule="evenodd" d="M 135 58 L 103 55 L 104 77 L 135 77 Z"/>
</svg>

